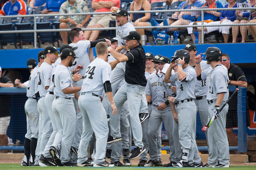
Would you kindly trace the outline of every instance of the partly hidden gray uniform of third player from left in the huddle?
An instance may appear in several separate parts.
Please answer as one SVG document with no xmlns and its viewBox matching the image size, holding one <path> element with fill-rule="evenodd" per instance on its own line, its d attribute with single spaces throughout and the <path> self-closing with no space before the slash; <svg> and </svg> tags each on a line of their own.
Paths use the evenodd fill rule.
<svg viewBox="0 0 256 170">
<path fill-rule="evenodd" d="M 51 82 L 50 82 L 50 86 L 47 90 L 47 94 L 45 95 L 45 106 L 47 108 L 47 112 L 49 114 L 50 117 L 50 121 L 52 122 L 52 134 L 50 135 L 49 141 L 47 142 L 45 149 L 43 151 L 43 155 L 45 158 L 51 158 L 51 155 L 49 153 L 50 147 L 54 146 L 56 149 L 60 149 L 60 143 L 61 143 L 61 138 L 62 138 L 62 134 L 58 133 L 57 135 L 57 124 L 56 124 L 56 120 L 55 120 L 55 116 L 52 110 L 52 102 L 54 100 L 54 95 L 53 95 L 53 91 L 54 91 L 54 75 L 55 75 L 55 70 L 56 70 L 56 66 L 58 66 L 61 62 L 60 57 L 56 60 L 55 63 L 52 64 L 53 66 L 53 70 L 52 70 L 52 75 L 51 75 Z"/>
</svg>

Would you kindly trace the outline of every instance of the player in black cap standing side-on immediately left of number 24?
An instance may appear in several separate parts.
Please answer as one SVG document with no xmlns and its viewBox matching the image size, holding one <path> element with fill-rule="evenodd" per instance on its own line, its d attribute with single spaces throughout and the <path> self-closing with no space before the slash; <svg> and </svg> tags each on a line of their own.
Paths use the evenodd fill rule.
<svg viewBox="0 0 256 170">
<path fill-rule="evenodd" d="M 69 152 L 74 139 L 74 131 L 70 127 L 75 127 L 76 113 L 73 98 L 78 99 L 77 92 L 81 87 L 74 87 L 71 75 L 71 70 L 68 67 L 76 58 L 75 52 L 70 48 L 65 48 L 61 51 L 61 63 L 56 66 L 54 73 L 54 100 L 52 110 L 54 112 L 58 132 L 63 132 L 60 146 L 60 157 L 58 153 L 52 150 L 54 161 L 59 166 L 71 166 Z M 56 134 L 56 135 L 57 135 Z M 54 139 L 55 141 L 56 139 Z M 51 151 L 51 150 L 50 150 Z"/>
</svg>

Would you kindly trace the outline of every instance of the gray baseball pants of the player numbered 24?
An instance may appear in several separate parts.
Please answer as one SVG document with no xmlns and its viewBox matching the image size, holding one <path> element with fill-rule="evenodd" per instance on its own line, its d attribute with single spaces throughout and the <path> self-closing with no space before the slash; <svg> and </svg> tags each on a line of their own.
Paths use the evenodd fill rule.
<svg viewBox="0 0 256 170">
<path fill-rule="evenodd" d="M 108 120 L 101 99 L 87 92 L 79 96 L 78 104 L 83 115 L 83 133 L 78 148 L 78 164 L 87 161 L 87 147 L 93 132 L 96 137 L 96 151 L 93 164 L 105 161 L 108 140 Z"/>
</svg>

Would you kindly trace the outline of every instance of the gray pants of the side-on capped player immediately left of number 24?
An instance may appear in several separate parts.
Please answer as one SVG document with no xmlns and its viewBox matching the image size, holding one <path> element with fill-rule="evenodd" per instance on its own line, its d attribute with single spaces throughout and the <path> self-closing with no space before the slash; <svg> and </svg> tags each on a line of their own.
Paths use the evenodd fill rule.
<svg viewBox="0 0 256 170">
<path fill-rule="evenodd" d="M 58 132 L 56 135 L 62 135 L 60 146 L 60 160 L 61 163 L 69 162 L 69 153 L 75 135 L 72 127 L 76 126 L 76 112 L 73 98 L 55 98 L 52 103 L 52 110 L 54 112 L 58 128 Z"/>
</svg>

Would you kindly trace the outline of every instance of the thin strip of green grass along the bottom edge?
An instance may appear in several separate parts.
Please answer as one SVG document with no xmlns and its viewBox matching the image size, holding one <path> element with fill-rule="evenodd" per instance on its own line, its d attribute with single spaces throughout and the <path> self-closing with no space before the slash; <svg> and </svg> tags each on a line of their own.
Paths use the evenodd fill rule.
<svg viewBox="0 0 256 170">
<path fill-rule="evenodd" d="M 230 170 L 230 169 L 239 169 L 239 170 L 251 170 L 251 169 L 254 169 L 255 166 L 230 166 L 229 169 L 226 169 L 226 168 L 218 168 L 218 170 L 220 169 L 226 169 L 226 170 Z M 19 163 L 1 163 L 0 164 L 0 170 L 2 169 L 29 169 L 29 170 L 33 170 L 33 169 L 128 169 L 128 170 L 139 170 L 139 169 L 154 169 L 154 170 L 158 170 L 158 169 L 167 169 L 167 167 L 138 167 L 138 166 L 131 166 L 131 167 L 24 167 L 24 166 L 20 166 Z M 169 168 L 168 168 L 169 169 Z M 174 167 L 172 167 L 171 169 L 174 169 Z M 180 169 L 180 168 L 177 168 L 177 169 Z M 191 167 L 187 167 L 186 169 L 198 169 L 198 168 L 191 168 Z M 203 169 L 212 169 L 212 168 L 203 168 Z"/>
</svg>

